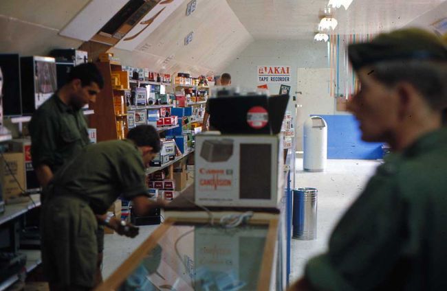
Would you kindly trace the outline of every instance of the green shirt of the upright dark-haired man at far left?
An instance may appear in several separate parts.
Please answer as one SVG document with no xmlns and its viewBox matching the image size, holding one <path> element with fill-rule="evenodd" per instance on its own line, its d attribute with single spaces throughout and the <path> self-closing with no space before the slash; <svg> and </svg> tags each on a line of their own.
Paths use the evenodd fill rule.
<svg viewBox="0 0 447 291">
<path fill-rule="evenodd" d="M 53 173 L 90 143 L 83 110 L 73 110 L 56 94 L 32 115 L 30 135 L 34 169 L 45 164 Z"/>
</svg>

